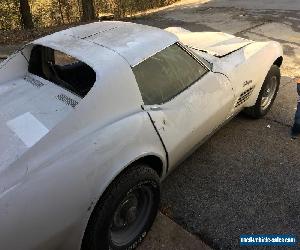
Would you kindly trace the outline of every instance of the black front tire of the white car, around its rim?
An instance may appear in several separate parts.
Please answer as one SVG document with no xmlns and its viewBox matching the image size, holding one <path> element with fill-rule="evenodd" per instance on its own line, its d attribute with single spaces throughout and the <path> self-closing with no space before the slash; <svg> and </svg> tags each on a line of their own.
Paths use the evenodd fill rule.
<svg viewBox="0 0 300 250">
<path fill-rule="evenodd" d="M 276 77 L 276 81 L 275 80 L 273 81 L 274 77 Z M 272 99 L 267 103 L 267 106 L 263 106 L 262 104 L 265 98 L 264 95 L 266 91 L 268 91 L 269 86 L 274 84 L 276 84 L 276 86 L 274 86 L 275 88 L 274 95 L 272 96 Z M 245 108 L 244 113 L 255 119 L 265 116 L 273 105 L 273 102 L 278 93 L 279 85 L 280 85 L 280 69 L 278 66 L 272 65 L 261 87 L 255 105 L 249 108 Z"/>
</svg>

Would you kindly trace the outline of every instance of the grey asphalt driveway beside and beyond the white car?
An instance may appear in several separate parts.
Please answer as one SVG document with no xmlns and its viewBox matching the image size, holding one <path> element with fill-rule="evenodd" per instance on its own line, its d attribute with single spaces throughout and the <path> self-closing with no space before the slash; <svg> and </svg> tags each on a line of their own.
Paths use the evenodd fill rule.
<svg viewBox="0 0 300 250">
<path fill-rule="evenodd" d="M 282 83 L 266 118 L 234 118 L 166 179 L 161 210 L 214 249 L 238 249 L 240 234 L 299 237 L 300 140 L 289 138 L 289 128 L 297 98 L 293 78 L 300 75 L 300 2 L 203 2 L 136 22 L 279 41 Z"/>
</svg>

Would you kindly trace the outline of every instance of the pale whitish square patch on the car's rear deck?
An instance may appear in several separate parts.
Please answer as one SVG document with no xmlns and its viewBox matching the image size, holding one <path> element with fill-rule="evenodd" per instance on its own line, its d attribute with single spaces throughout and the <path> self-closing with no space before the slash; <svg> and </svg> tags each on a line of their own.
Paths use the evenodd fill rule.
<svg viewBox="0 0 300 250">
<path fill-rule="evenodd" d="M 18 116 L 6 124 L 29 148 L 49 132 L 44 124 L 30 112 Z"/>
</svg>

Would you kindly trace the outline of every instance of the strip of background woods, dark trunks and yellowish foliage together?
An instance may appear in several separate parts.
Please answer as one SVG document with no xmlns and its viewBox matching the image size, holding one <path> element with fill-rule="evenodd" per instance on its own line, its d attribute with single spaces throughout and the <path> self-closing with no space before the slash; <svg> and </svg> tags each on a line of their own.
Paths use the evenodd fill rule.
<svg viewBox="0 0 300 250">
<path fill-rule="evenodd" d="M 0 0 L 0 32 L 31 29 L 33 26 L 38 30 L 67 27 L 80 21 L 92 21 L 100 15 L 121 19 L 176 1 L 178 0 Z"/>
</svg>

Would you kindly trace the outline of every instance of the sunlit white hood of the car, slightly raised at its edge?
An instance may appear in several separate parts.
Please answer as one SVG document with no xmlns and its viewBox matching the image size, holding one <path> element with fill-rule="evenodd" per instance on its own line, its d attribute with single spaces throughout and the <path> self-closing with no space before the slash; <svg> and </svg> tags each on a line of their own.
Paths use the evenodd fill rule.
<svg viewBox="0 0 300 250">
<path fill-rule="evenodd" d="M 166 31 L 175 34 L 184 45 L 216 57 L 223 57 L 253 43 L 251 40 L 222 32 L 190 32 L 178 27 L 167 28 Z"/>
</svg>

